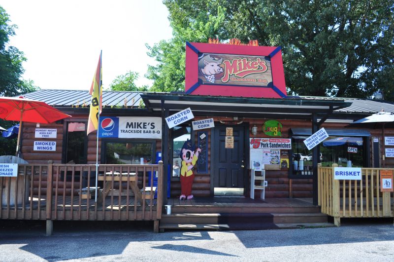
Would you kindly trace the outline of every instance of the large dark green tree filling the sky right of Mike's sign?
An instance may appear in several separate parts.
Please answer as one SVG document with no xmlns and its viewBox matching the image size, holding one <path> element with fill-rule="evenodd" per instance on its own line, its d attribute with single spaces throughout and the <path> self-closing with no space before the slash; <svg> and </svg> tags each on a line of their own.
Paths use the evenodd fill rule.
<svg viewBox="0 0 394 262">
<path fill-rule="evenodd" d="M 164 0 L 164 4 L 174 36 L 181 34 L 182 40 L 190 39 L 181 32 L 188 28 L 196 32 L 191 25 L 221 17 L 220 27 L 205 31 L 201 41 L 236 37 L 281 46 L 290 94 L 365 98 L 382 89 L 386 99 L 394 98 L 391 0 Z M 152 55 L 159 65 L 171 64 L 162 59 L 171 54 L 172 60 L 183 59 L 178 46 L 156 47 Z M 154 86 L 163 84 L 163 75 L 167 82 L 179 80 L 170 78 L 166 67 L 173 65 L 154 68 Z"/>
</svg>

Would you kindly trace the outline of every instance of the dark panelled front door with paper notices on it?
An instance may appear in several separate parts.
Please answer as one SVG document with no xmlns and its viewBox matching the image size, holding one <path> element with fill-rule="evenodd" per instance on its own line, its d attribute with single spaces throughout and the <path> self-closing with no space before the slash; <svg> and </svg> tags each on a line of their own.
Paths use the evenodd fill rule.
<svg viewBox="0 0 394 262">
<path fill-rule="evenodd" d="M 245 181 L 244 127 L 232 126 L 234 148 L 226 149 L 226 126 L 214 128 L 213 186 L 217 189 L 228 188 L 243 194 Z M 220 191 L 220 190 L 218 190 Z M 231 194 L 231 193 L 229 193 Z"/>
</svg>

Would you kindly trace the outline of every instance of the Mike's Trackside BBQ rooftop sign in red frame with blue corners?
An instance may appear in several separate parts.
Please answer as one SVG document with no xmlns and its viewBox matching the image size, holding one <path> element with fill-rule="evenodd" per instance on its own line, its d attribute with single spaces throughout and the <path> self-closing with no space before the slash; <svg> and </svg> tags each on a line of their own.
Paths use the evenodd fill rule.
<svg viewBox="0 0 394 262">
<path fill-rule="evenodd" d="M 186 94 L 286 97 L 280 47 L 186 44 Z"/>
</svg>

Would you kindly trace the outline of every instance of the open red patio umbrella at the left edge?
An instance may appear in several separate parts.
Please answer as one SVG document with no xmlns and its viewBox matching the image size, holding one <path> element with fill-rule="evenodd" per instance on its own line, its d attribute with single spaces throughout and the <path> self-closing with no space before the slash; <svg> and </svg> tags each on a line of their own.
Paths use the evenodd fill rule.
<svg viewBox="0 0 394 262">
<path fill-rule="evenodd" d="M 26 99 L 23 97 L 0 97 L 0 118 L 4 120 L 19 121 L 18 141 L 16 154 L 19 151 L 22 122 L 52 123 L 59 119 L 71 117 L 45 102 Z"/>
</svg>

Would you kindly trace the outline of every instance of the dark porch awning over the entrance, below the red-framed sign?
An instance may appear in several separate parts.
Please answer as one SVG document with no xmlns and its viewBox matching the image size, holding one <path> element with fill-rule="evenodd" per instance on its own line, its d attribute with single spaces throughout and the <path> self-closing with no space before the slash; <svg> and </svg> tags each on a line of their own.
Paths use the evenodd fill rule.
<svg viewBox="0 0 394 262">
<path fill-rule="evenodd" d="M 204 116 L 244 116 L 256 118 L 311 119 L 312 114 L 326 115 L 351 103 L 340 99 L 250 98 L 203 96 L 168 93 L 141 94 L 148 110 L 168 109 L 169 114 L 191 108 Z"/>
</svg>

